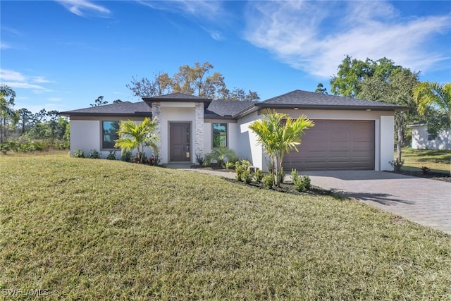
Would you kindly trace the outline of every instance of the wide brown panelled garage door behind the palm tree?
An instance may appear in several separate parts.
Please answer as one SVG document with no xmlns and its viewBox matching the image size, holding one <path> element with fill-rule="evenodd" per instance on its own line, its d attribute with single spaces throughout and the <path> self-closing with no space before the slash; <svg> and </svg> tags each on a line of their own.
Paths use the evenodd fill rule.
<svg viewBox="0 0 451 301">
<path fill-rule="evenodd" d="M 285 154 L 285 171 L 374 169 L 374 121 L 314 122 L 305 131 L 299 152 Z"/>
</svg>

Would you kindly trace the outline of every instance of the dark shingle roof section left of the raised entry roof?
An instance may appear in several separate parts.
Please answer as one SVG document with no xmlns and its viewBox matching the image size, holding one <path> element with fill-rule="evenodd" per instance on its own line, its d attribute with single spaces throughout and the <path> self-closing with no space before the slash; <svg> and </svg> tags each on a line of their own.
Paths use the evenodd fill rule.
<svg viewBox="0 0 451 301">
<path fill-rule="evenodd" d="M 152 110 L 145 102 L 118 102 L 104 106 L 61 112 L 63 116 L 152 116 Z"/>
</svg>

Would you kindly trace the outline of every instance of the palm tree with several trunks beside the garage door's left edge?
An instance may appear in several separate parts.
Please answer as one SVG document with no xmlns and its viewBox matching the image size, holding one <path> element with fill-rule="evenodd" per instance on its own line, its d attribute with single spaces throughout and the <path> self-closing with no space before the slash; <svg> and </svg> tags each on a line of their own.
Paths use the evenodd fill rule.
<svg viewBox="0 0 451 301">
<path fill-rule="evenodd" d="M 293 119 L 288 114 L 278 113 L 266 109 L 262 112 L 264 117 L 249 125 L 249 129 L 257 134 L 257 142 L 263 145 L 266 154 L 271 159 L 271 172 L 274 183 L 280 186 L 280 173 L 283 170 L 283 156 L 301 144 L 304 130 L 314 126 L 314 122 L 307 116 Z"/>
</svg>

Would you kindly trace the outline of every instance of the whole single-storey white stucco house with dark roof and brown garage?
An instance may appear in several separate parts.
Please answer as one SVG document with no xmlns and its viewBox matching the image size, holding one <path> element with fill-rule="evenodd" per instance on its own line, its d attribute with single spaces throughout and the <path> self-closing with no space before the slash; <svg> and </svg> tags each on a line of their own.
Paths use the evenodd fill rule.
<svg viewBox="0 0 451 301">
<path fill-rule="evenodd" d="M 144 97 L 143 102 L 108 104 L 62 112 L 70 117 L 70 152 L 97 149 L 102 157 L 113 148 L 121 120 L 156 117 L 162 164 L 196 162 L 197 154 L 216 147 L 235 149 L 266 170 L 267 156 L 249 124 L 261 118 L 261 109 L 276 109 L 293 118 L 307 115 L 315 123 L 305 131 L 299 152 L 285 155 L 284 168 L 391 170 L 394 115 L 405 109 L 295 90 L 264 102 L 211 100 L 173 93 Z M 116 149 L 118 150 L 118 149 Z"/>
</svg>

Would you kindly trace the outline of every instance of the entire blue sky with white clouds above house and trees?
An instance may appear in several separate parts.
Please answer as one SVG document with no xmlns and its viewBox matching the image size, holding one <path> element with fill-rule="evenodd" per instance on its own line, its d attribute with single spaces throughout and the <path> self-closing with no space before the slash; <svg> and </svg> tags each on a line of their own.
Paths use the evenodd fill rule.
<svg viewBox="0 0 451 301">
<path fill-rule="evenodd" d="M 348 54 L 451 81 L 451 1 L 4 1 L 0 82 L 16 109 L 137 102 L 132 77 L 208 61 L 261 99 L 314 91 Z"/>
</svg>

